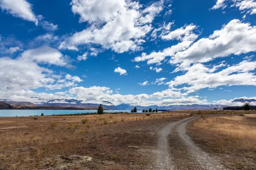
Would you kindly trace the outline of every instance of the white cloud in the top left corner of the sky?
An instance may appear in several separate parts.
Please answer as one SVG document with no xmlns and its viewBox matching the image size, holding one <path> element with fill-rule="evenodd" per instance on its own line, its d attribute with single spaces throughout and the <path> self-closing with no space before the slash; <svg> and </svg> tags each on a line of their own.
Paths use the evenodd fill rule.
<svg viewBox="0 0 256 170">
<path fill-rule="evenodd" d="M 32 12 L 32 5 L 26 0 L 0 0 L 0 7 L 14 17 L 20 17 L 38 25 L 38 19 Z"/>
</svg>

